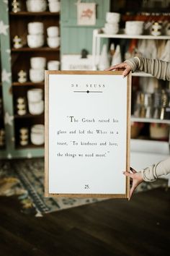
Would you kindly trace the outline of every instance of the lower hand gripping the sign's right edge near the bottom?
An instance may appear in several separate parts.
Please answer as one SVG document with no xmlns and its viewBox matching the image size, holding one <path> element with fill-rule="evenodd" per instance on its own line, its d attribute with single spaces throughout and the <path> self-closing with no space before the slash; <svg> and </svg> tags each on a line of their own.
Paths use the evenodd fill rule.
<svg viewBox="0 0 170 256">
<path fill-rule="evenodd" d="M 131 197 L 133 195 L 133 192 L 135 191 L 136 187 L 138 187 L 138 185 L 143 182 L 143 177 L 140 174 L 140 172 L 135 171 L 132 167 L 130 167 L 130 171 L 132 171 L 133 174 L 130 174 L 130 172 L 128 172 L 128 171 L 123 171 L 123 174 L 125 174 L 125 176 L 128 176 L 131 179 L 133 179 L 133 184 L 130 189 L 130 197 Z"/>
</svg>

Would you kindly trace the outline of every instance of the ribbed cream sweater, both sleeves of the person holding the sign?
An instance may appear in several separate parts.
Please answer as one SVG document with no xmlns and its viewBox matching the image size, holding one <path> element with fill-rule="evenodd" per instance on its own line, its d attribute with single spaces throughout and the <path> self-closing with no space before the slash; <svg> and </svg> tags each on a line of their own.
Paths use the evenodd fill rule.
<svg viewBox="0 0 170 256">
<path fill-rule="evenodd" d="M 170 81 L 170 62 L 141 57 L 134 57 L 126 60 L 125 62 L 130 65 L 132 72 L 140 70 L 152 74 L 158 79 Z M 170 157 L 164 161 L 144 168 L 140 173 L 146 182 L 153 182 L 158 179 L 159 176 L 170 174 Z"/>
</svg>

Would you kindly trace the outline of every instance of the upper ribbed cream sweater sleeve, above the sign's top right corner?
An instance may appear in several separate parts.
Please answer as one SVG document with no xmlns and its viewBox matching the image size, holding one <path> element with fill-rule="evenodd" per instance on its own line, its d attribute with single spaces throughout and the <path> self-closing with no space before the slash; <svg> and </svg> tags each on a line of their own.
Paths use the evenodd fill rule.
<svg viewBox="0 0 170 256">
<path fill-rule="evenodd" d="M 158 79 L 170 81 L 170 62 L 159 59 L 134 57 L 125 61 L 132 68 L 132 72 L 140 70 Z"/>
</svg>

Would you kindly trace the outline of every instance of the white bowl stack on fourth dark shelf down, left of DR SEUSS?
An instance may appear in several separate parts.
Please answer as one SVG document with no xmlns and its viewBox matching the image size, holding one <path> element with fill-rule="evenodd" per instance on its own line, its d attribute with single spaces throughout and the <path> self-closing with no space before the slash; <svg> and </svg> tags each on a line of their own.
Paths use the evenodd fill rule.
<svg viewBox="0 0 170 256">
<path fill-rule="evenodd" d="M 44 112 L 43 90 L 40 88 L 27 91 L 28 110 L 32 115 L 40 115 Z"/>
</svg>

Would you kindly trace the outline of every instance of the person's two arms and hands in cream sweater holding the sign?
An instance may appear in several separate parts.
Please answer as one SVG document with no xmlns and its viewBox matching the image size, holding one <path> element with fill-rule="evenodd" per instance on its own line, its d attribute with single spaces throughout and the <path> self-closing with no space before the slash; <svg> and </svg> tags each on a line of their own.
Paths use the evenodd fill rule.
<svg viewBox="0 0 170 256">
<path fill-rule="evenodd" d="M 107 71 L 124 69 L 122 75 L 126 77 L 130 71 L 135 72 L 140 70 L 149 74 L 152 74 L 153 77 L 162 80 L 170 81 L 170 62 L 161 61 L 158 59 L 146 59 L 143 57 L 135 56 L 134 58 L 127 59 L 125 62 L 117 64 L 115 66 L 109 67 Z M 135 188 L 138 187 L 140 183 L 145 182 L 154 182 L 158 177 L 162 175 L 170 174 L 170 157 L 164 161 L 158 162 L 144 168 L 143 170 L 137 172 L 133 168 L 130 168 L 129 171 L 123 171 L 125 176 L 129 176 L 133 179 L 133 184 L 130 189 L 130 197 L 133 195 Z"/>
</svg>

